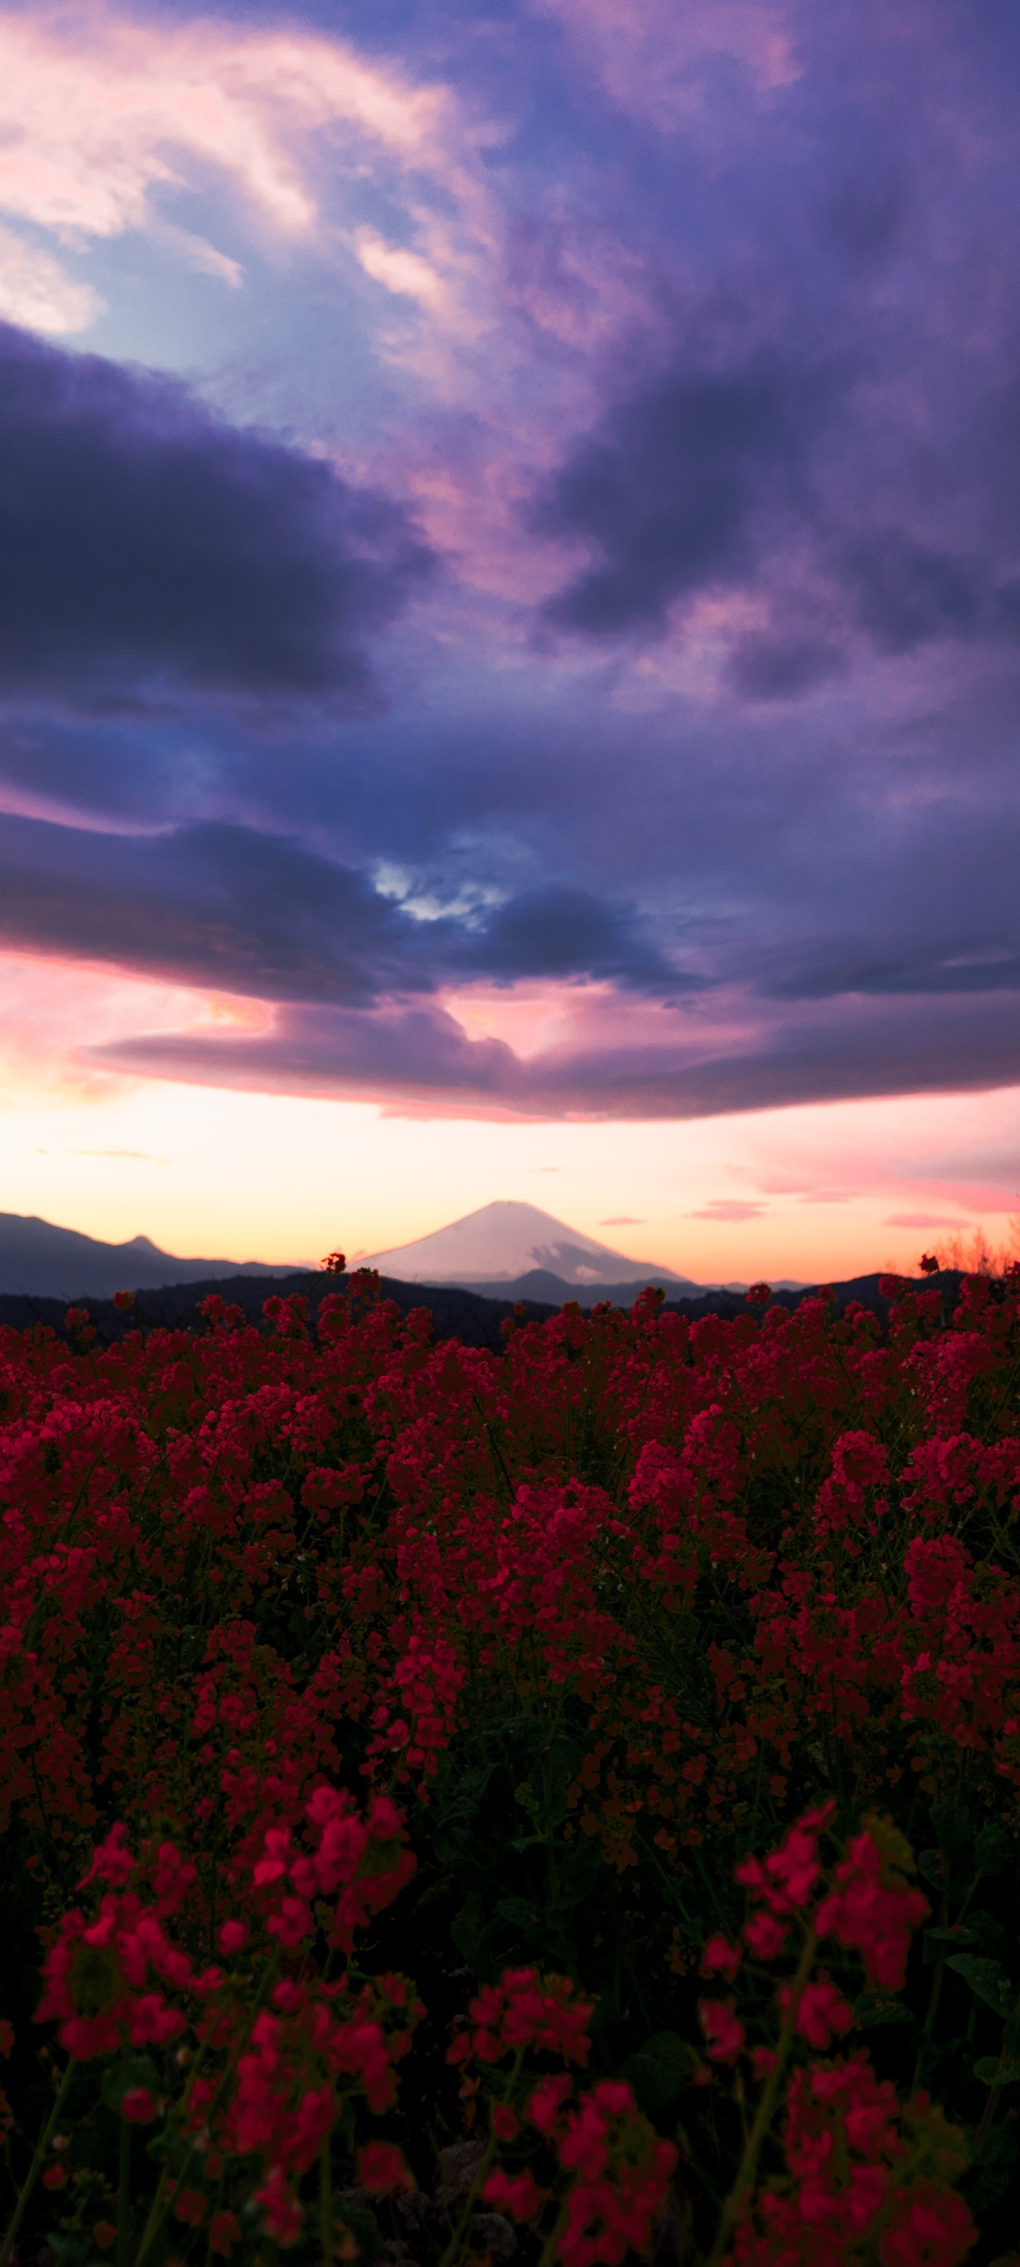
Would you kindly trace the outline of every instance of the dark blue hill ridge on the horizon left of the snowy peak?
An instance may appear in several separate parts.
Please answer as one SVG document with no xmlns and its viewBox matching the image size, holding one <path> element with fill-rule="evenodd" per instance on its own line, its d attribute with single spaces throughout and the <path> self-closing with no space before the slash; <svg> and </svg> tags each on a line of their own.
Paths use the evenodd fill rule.
<svg viewBox="0 0 1020 2267">
<path fill-rule="evenodd" d="M 147 1290 L 163 1283 L 195 1283 L 197 1276 L 281 1276 L 295 1263 L 179 1260 L 147 1236 L 127 1245 L 104 1245 L 77 1229 L 57 1229 L 34 1213 L 0 1213 L 0 1294 L 29 1299 L 111 1299 L 116 1290 Z"/>
</svg>

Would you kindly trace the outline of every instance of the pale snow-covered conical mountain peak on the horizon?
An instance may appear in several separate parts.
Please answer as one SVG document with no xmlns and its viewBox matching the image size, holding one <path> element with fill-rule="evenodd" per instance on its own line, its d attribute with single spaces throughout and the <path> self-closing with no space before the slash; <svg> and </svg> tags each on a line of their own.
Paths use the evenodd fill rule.
<svg viewBox="0 0 1020 2267">
<path fill-rule="evenodd" d="M 564 1283 L 571 1290 L 630 1281 L 639 1288 L 644 1283 L 700 1288 L 691 1276 L 678 1276 L 657 1260 L 635 1260 L 612 1245 L 583 1236 L 553 1213 L 542 1213 L 537 1204 L 510 1199 L 483 1204 L 413 1245 L 372 1251 L 358 1265 L 379 1267 L 379 1274 L 397 1276 L 401 1283 L 460 1283 L 465 1290 L 485 1290 L 494 1297 L 505 1297 L 508 1285 L 533 1279 L 535 1272 L 555 1281 L 558 1290 L 551 1297 L 562 1297 Z M 519 1297 L 517 1290 L 512 1294 Z M 542 1299 L 544 1292 L 533 1290 L 530 1297 Z"/>
</svg>

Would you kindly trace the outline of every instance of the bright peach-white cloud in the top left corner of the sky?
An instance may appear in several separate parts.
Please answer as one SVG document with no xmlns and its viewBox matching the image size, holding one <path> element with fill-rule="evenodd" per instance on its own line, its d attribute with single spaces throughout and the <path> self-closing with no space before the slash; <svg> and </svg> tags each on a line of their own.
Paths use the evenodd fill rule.
<svg viewBox="0 0 1020 2267">
<path fill-rule="evenodd" d="M 453 172 L 451 100 L 338 39 L 193 20 L 131 23 L 97 9 L 7 11 L 0 209 L 48 229 L 145 227 L 181 161 L 227 172 L 283 234 L 317 218 L 308 134 L 342 125 L 399 168 Z M 447 141 L 447 150 L 444 150 Z"/>
</svg>

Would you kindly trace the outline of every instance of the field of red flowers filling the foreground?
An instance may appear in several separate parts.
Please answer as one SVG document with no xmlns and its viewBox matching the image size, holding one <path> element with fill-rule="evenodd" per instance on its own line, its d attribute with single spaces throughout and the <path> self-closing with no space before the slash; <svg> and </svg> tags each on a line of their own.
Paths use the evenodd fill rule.
<svg viewBox="0 0 1020 2267">
<path fill-rule="evenodd" d="M 2 2267 L 1020 2256 L 1020 1270 L 0 1333 Z"/>
</svg>

